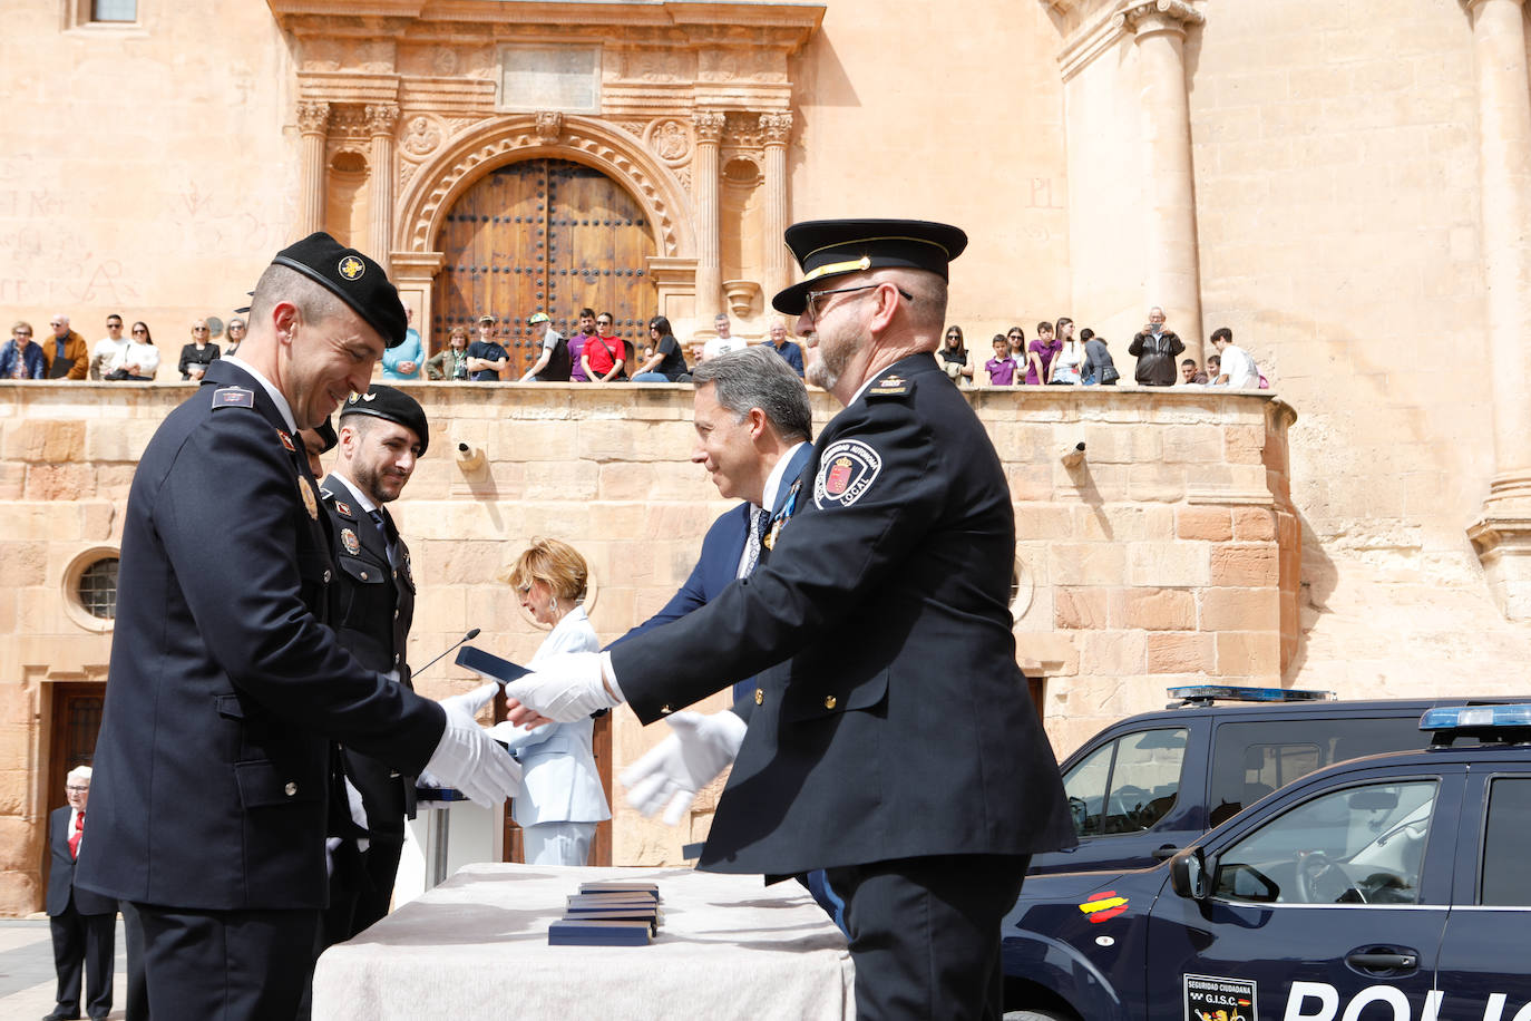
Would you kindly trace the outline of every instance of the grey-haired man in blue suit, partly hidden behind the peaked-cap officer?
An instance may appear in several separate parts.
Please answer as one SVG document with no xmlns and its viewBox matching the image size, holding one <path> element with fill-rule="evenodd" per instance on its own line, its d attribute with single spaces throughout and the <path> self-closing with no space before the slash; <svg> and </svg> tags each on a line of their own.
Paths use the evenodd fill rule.
<svg viewBox="0 0 1531 1021">
<path fill-rule="evenodd" d="M 720 496 L 744 502 L 707 528 L 697 566 L 675 595 L 617 643 L 704 606 L 759 562 L 770 522 L 813 455 L 808 392 L 790 367 L 782 372 L 767 355 L 766 347 L 750 347 L 697 366 L 690 459 L 707 468 Z M 736 698 L 753 690 L 749 680 L 733 687 Z"/>
</svg>

